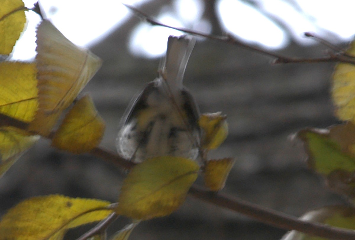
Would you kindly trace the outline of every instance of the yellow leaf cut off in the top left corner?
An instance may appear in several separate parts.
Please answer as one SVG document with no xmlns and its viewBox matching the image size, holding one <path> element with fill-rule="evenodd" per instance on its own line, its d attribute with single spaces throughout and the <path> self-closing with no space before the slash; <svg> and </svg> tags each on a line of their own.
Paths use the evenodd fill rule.
<svg viewBox="0 0 355 240">
<path fill-rule="evenodd" d="M 21 0 L 0 0 L 0 55 L 10 55 L 26 23 Z"/>
</svg>

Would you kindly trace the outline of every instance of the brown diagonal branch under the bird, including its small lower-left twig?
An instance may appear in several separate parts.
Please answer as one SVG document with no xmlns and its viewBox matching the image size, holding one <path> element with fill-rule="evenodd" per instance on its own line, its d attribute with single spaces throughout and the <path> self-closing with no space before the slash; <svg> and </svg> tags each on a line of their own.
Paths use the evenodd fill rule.
<svg viewBox="0 0 355 240">
<path fill-rule="evenodd" d="M 13 124 L 11 124 L 12 120 L 13 120 Z M 28 124 L 26 122 L 22 122 L 22 124 L 19 124 L 19 122 L 21 122 L 21 121 L 13 119 L 9 116 L 0 114 L 0 127 L 1 126 L 13 126 L 13 127 L 17 127 L 17 128 L 27 131 Z M 53 136 L 53 134 L 50 134 L 48 138 L 50 139 L 51 136 Z M 127 171 L 127 170 L 131 169 L 133 166 L 135 166 L 135 164 L 133 164 L 132 162 L 129 162 L 129 161 L 121 158 L 119 155 L 108 152 L 107 150 L 100 148 L 100 147 L 94 148 L 93 150 L 91 150 L 90 153 L 92 155 L 97 156 L 98 158 L 108 162 L 109 164 L 113 164 L 119 170 Z M 201 187 L 198 187 L 197 185 L 193 185 L 190 188 L 189 194 L 197 199 L 202 200 L 202 201 L 206 201 L 211 204 L 227 208 L 227 209 L 232 210 L 234 212 L 241 213 L 247 217 L 256 219 L 260 222 L 272 225 L 277 228 L 282 228 L 282 229 L 286 229 L 286 230 L 297 230 L 297 231 L 300 231 L 303 233 L 307 233 L 307 234 L 311 234 L 311 235 L 315 235 L 315 236 L 320 236 L 323 238 L 334 239 L 334 240 L 354 240 L 355 239 L 355 231 L 354 230 L 335 228 L 335 227 L 330 227 L 325 224 L 302 221 L 300 219 L 286 215 L 284 213 L 277 212 L 274 210 L 269 210 L 267 208 L 260 207 L 256 204 L 252 204 L 250 202 L 246 202 L 244 200 L 234 198 L 232 196 L 204 190 Z M 106 219 L 108 222 L 105 222 L 105 220 L 104 220 L 102 222 L 102 224 L 111 223 L 113 218 L 115 218 L 115 216 L 110 215 L 108 217 L 108 219 Z M 98 224 L 96 227 L 94 227 L 88 233 L 97 233 L 97 232 L 99 232 L 99 230 L 102 230 L 102 229 L 103 229 L 103 226 Z M 83 235 L 82 236 L 83 239 L 85 239 L 84 237 L 86 237 L 86 236 L 87 235 Z"/>
</svg>

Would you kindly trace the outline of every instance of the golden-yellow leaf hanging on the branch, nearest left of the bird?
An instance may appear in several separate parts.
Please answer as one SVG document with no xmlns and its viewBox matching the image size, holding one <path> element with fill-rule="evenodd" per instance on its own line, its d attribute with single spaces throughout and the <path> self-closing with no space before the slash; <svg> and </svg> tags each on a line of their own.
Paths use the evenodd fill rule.
<svg viewBox="0 0 355 240">
<path fill-rule="evenodd" d="M 52 146 L 79 154 L 96 147 L 104 134 L 105 122 L 89 95 L 78 100 L 65 116 L 52 139 Z"/>
</svg>

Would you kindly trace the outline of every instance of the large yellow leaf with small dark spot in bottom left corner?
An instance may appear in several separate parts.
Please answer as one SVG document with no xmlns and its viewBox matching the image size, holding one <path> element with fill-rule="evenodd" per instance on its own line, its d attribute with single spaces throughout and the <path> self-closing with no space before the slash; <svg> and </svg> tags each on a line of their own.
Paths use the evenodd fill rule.
<svg viewBox="0 0 355 240">
<path fill-rule="evenodd" d="M 34 197 L 11 208 L 1 219 L 0 240 L 59 240 L 66 230 L 100 221 L 110 203 L 61 195 Z"/>
</svg>

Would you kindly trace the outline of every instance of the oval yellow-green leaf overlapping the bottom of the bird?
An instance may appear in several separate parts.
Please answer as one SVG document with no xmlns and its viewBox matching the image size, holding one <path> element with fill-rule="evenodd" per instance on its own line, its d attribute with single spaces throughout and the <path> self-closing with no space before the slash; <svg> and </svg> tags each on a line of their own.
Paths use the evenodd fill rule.
<svg viewBox="0 0 355 240">
<path fill-rule="evenodd" d="M 116 212 L 143 220 L 169 215 L 185 201 L 198 169 L 196 162 L 173 156 L 136 165 L 122 185 Z"/>
</svg>

